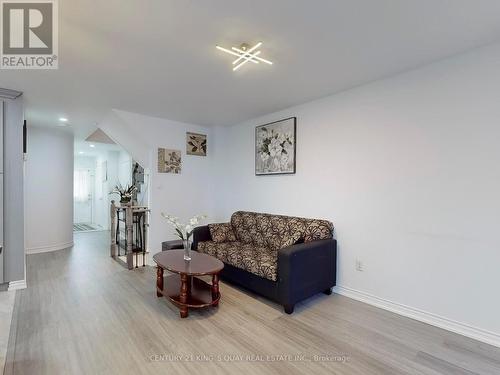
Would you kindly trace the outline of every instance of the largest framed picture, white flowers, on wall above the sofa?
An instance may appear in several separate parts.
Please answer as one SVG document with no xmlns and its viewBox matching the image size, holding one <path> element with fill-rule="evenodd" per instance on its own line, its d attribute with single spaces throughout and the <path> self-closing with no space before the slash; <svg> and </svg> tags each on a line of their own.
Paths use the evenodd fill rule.
<svg viewBox="0 0 500 375">
<path fill-rule="evenodd" d="M 255 174 L 294 174 L 297 118 L 260 125 L 255 128 Z"/>
</svg>

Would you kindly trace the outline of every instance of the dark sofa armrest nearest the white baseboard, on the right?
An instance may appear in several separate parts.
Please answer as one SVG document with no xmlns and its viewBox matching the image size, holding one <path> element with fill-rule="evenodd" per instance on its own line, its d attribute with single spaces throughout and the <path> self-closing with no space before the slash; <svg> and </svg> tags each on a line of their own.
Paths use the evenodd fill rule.
<svg viewBox="0 0 500 375">
<path fill-rule="evenodd" d="M 335 286 L 337 241 L 318 240 L 278 251 L 278 294 L 281 303 L 294 305 Z"/>
</svg>

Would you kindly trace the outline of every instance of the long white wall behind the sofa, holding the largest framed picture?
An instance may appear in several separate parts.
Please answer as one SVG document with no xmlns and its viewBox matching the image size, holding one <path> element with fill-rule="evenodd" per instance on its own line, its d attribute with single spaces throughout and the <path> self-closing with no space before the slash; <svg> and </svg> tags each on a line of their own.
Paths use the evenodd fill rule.
<svg viewBox="0 0 500 375">
<path fill-rule="evenodd" d="M 500 344 L 499 88 L 496 45 L 218 128 L 217 216 L 330 219 L 340 286 Z M 255 126 L 290 116 L 297 174 L 256 177 Z"/>
</svg>

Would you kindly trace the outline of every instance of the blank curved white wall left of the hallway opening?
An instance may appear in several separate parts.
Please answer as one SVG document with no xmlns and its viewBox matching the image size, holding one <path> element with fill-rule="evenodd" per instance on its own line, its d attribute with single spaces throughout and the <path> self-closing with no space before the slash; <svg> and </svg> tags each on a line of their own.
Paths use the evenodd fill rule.
<svg viewBox="0 0 500 375">
<path fill-rule="evenodd" d="M 73 245 L 73 136 L 30 127 L 25 179 L 26 252 Z"/>
</svg>

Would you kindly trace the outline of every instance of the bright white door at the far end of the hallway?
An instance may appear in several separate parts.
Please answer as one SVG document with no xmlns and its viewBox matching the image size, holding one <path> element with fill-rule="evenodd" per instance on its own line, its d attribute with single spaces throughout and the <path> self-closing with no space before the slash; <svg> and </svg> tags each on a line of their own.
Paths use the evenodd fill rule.
<svg viewBox="0 0 500 375">
<path fill-rule="evenodd" d="M 92 223 L 93 173 L 88 169 L 75 169 L 73 180 L 73 222 Z"/>
</svg>

